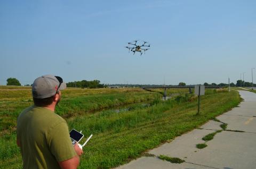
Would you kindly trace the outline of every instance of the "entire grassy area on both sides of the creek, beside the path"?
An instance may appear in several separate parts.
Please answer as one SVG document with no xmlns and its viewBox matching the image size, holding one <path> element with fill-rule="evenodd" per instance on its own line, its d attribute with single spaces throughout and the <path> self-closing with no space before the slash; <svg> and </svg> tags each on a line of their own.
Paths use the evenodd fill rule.
<svg viewBox="0 0 256 169">
<path fill-rule="evenodd" d="M 91 91 L 94 94 L 90 95 L 78 94 L 79 97 L 68 97 L 67 93 L 67 97 L 63 97 L 57 113 L 67 119 L 69 128 L 83 130 L 85 137 L 93 134 L 84 148 L 80 168 L 110 168 L 124 164 L 148 149 L 197 128 L 241 101 L 234 90 L 206 90 L 201 100 L 201 114 L 195 115 L 197 98 L 193 95 L 181 95 L 163 102 L 157 92 L 131 90 L 97 90 L 98 93 Z M 75 93 L 71 91 L 71 95 Z M 32 101 L 29 97 L 12 99 L 3 101 L 5 106 L 1 104 L 0 107 L 0 168 L 22 167 L 15 142 L 15 124 L 20 111 Z M 144 100 L 151 100 L 150 106 L 135 105 L 120 113 L 111 110 L 89 113 L 93 109 Z M 8 123 L 3 125 L 3 122 Z"/>
</svg>

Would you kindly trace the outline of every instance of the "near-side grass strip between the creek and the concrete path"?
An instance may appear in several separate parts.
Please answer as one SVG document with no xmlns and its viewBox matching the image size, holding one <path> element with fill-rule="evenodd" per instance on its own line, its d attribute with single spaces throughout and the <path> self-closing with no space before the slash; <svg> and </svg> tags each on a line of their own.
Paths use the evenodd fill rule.
<svg viewBox="0 0 256 169">
<path fill-rule="evenodd" d="M 237 106 L 240 101 L 237 91 L 216 92 L 202 97 L 200 115 L 195 115 L 197 100 L 177 103 L 172 99 L 135 111 L 105 111 L 102 114 L 86 114 L 69 119 L 69 128 L 82 130 L 85 139 L 94 134 L 83 149 L 79 168 L 111 168 L 127 163 L 166 140 L 198 128 Z M 15 144 L 15 140 L 10 138 L 9 145 L 4 149 L 6 140 L 0 141 L 0 166 L 6 166 L 10 161 L 20 161 Z M 14 155 L 6 156 L 6 151 L 12 151 Z M 17 166 L 21 164 L 10 165 L 9 168 Z"/>
</svg>

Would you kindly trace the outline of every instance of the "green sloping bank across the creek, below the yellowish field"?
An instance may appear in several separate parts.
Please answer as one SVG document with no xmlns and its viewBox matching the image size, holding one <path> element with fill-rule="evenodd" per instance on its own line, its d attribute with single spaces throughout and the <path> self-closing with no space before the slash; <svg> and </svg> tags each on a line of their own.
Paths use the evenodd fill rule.
<svg viewBox="0 0 256 169">
<path fill-rule="evenodd" d="M 161 97 L 160 94 L 151 92 L 121 92 L 117 94 L 95 94 L 81 97 L 64 97 L 55 112 L 65 118 L 89 114 L 93 111 L 99 111 L 104 108 L 122 106 L 126 104 L 147 102 L 154 98 Z M 31 99 L 21 99 L 15 102 L 3 102 L 0 105 L 0 136 L 4 131 L 13 131 L 15 129 L 19 113 L 26 107 L 33 105 Z"/>
</svg>

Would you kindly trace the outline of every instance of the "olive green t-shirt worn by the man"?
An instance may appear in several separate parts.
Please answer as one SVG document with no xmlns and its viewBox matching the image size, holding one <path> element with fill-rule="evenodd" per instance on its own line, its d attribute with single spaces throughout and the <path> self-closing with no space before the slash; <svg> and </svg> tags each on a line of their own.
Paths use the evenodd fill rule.
<svg viewBox="0 0 256 169">
<path fill-rule="evenodd" d="M 31 106 L 21 112 L 17 139 L 23 168 L 60 168 L 58 162 L 77 155 L 66 121 L 44 107 Z"/>
</svg>

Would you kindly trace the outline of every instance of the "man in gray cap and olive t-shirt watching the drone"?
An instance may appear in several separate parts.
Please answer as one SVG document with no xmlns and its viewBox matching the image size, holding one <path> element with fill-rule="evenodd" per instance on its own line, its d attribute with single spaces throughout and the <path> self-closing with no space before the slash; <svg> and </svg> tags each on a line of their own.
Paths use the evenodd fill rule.
<svg viewBox="0 0 256 169">
<path fill-rule="evenodd" d="M 73 146 L 67 122 L 54 113 L 66 83 L 60 77 L 43 75 L 32 87 L 34 105 L 17 121 L 17 145 L 23 168 L 77 168 L 83 150 Z"/>
</svg>

